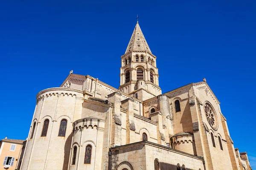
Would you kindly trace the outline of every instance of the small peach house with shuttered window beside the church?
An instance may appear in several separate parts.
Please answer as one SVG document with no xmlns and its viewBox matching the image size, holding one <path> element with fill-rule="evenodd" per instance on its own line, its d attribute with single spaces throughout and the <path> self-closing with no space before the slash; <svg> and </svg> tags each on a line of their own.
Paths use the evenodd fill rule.
<svg viewBox="0 0 256 170">
<path fill-rule="evenodd" d="M 21 148 L 25 140 L 2 139 L 0 141 L 0 169 L 15 170 L 20 159 Z"/>
</svg>

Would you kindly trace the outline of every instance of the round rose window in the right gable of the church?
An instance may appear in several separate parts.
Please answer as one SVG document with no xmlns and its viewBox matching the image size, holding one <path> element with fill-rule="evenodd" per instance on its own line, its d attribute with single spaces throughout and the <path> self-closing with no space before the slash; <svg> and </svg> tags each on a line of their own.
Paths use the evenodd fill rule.
<svg viewBox="0 0 256 170">
<path fill-rule="evenodd" d="M 213 129 L 216 129 L 218 126 L 217 116 L 214 109 L 209 103 L 204 104 L 204 112 L 208 123 L 211 125 Z"/>
</svg>

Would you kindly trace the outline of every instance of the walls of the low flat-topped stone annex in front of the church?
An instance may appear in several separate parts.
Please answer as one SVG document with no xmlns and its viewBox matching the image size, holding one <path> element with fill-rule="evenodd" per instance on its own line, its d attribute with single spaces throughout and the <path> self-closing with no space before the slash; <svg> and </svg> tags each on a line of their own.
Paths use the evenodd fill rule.
<svg viewBox="0 0 256 170">
<path fill-rule="evenodd" d="M 160 170 L 177 170 L 177 164 L 191 170 L 204 170 L 203 159 L 149 142 L 111 149 L 110 169 L 154 170 L 155 159 L 159 161 Z"/>
</svg>

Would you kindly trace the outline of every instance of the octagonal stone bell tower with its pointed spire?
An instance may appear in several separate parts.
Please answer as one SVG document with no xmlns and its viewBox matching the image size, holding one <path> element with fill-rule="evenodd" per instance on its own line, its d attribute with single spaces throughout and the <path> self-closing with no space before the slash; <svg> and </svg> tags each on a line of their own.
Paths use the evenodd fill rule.
<svg viewBox="0 0 256 170">
<path fill-rule="evenodd" d="M 121 56 L 119 90 L 140 100 L 162 94 L 156 59 L 137 21 L 125 54 Z"/>
</svg>

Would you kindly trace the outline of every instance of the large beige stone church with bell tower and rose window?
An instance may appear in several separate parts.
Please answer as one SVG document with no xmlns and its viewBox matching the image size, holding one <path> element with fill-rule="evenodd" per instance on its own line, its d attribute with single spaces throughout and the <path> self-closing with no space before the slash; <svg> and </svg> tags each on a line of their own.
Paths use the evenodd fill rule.
<svg viewBox="0 0 256 170">
<path fill-rule="evenodd" d="M 206 79 L 162 94 L 138 22 L 121 61 L 118 89 L 70 71 L 37 94 L 21 170 L 251 170 Z"/>
</svg>

